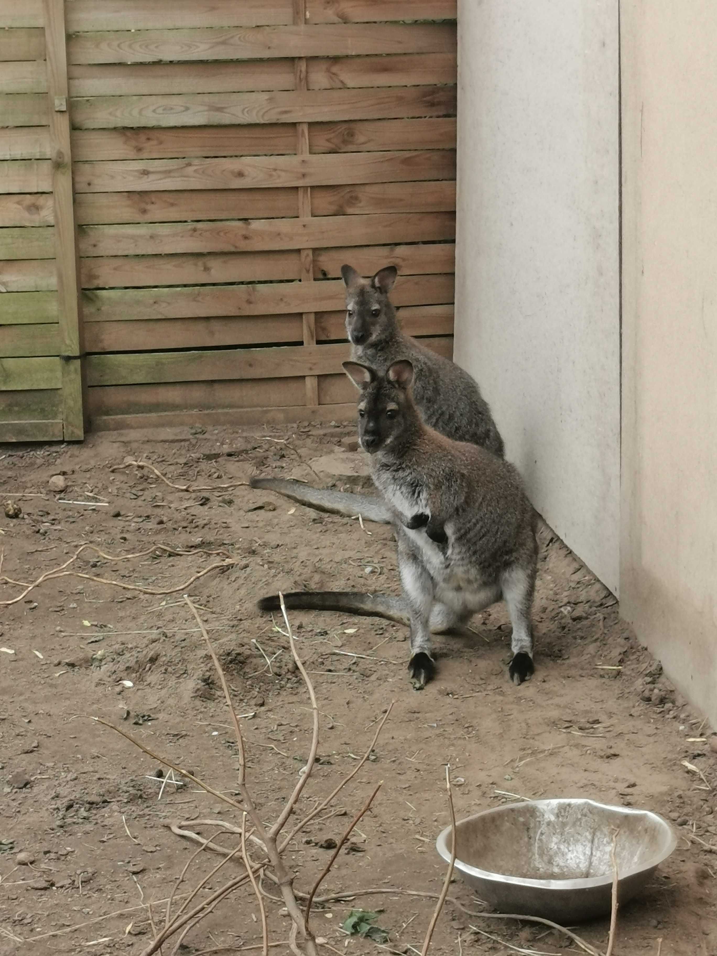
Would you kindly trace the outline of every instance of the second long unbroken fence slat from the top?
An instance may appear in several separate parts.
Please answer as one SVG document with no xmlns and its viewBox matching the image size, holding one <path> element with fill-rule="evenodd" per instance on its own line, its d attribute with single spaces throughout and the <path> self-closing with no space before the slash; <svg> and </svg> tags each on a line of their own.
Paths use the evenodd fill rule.
<svg viewBox="0 0 717 956">
<path fill-rule="evenodd" d="M 76 129 L 380 120 L 454 114 L 456 91 L 453 86 L 410 86 L 371 91 L 289 90 L 163 97 L 76 97 L 72 101 L 72 111 Z"/>
</svg>

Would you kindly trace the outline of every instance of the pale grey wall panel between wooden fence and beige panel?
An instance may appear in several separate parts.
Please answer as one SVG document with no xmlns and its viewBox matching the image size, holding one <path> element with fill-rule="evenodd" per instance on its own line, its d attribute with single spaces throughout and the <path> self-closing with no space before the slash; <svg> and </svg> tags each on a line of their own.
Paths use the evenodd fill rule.
<svg viewBox="0 0 717 956">
<path fill-rule="evenodd" d="M 618 0 L 459 0 L 455 359 L 619 586 Z"/>
</svg>

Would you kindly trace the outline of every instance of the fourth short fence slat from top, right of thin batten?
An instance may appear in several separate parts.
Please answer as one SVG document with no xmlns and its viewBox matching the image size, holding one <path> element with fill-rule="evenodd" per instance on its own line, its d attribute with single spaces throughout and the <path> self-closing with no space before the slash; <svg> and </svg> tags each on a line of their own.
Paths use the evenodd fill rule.
<svg viewBox="0 0 717 956">
<path fill-rule="evenodd" d="M 371 212 L 448 212 L 456 207 L 451 180 L 415 183 L 315 186 L 313 216 L 358 215 Z"/>
</svg>

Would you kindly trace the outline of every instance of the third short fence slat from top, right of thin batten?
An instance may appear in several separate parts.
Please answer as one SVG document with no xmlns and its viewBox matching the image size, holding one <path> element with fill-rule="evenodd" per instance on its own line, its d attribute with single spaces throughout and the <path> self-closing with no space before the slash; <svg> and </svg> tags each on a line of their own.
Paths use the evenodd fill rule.
<svg viewBox="0 0 717 956">
<path fill-rule="evenodd" d="M 453 117 L 424 117 L 421 120 L 313 122 L 309 125 L 309 144 L 312 153 L 455 149 L 456 120 Z"/>
</svg>

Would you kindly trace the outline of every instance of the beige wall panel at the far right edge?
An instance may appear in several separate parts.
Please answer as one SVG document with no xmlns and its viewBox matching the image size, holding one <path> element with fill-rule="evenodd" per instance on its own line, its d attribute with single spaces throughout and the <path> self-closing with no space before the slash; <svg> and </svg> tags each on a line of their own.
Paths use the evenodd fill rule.
<svg viewBox="0 0 717 956">
<path fill-rule="evenodd" d="M 715 727 L 717 4 L 620 10 L 620 610 Z"/>
</svg>

